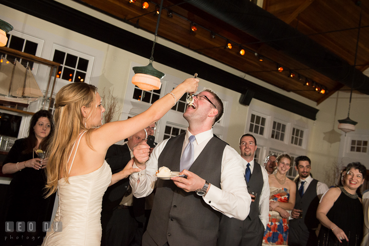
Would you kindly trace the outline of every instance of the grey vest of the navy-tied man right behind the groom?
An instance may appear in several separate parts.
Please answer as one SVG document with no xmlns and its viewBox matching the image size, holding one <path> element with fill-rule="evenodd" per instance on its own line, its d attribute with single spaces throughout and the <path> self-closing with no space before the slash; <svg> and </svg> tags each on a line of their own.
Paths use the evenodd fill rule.
<svg viewBox="0 0 369 246">
<path fill-rule="evenodd" d="M 262 178 L 261 166 L 257 162 L 254 162 L 254 170 L 251 174 L 249 183 L 247 183 L 248 191 L 253 191 L 257 193 L 255 202 L 252 202 L 250 205 L 250 219 L 255 219 L 259 217 L 259 200 L 263 185 L 264 181 Z"/>
</svg>

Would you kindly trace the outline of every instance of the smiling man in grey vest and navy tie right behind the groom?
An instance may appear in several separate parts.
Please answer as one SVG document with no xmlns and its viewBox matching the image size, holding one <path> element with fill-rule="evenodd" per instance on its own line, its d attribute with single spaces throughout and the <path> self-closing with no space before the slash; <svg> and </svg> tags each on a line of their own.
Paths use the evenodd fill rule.
<svg viewBox="0 0 369 246">
<path fill-rule="evenodd" d="M 244 134 L 239 144 L 245 180 L 253 200 L 249 216 L 245 220 L 222 216 L 217 243 L 219 246 L 261 245 L 269 221 L 268 173 L 254 161 L 256 139 L 251 134 Z"/>
</svg>

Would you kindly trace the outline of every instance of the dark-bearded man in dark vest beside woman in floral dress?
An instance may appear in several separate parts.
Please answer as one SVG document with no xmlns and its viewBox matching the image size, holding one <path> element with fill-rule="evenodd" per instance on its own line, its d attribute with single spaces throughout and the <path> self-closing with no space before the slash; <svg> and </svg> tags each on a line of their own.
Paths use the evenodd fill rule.
<svg viewBox="0 0 369 246">
<path fill-rule="evenodd" d="M 319 199 L 328 187 L 315 180 L 311 175 L 311 161 L 308 156 L 298 156 L 295 159 L 295 169 L 299 173 L 296 180 L 296 203 L 290 219 L 290 246 L 317 245 L 315 230 L 319 225 L 316 210 Z M 302 215 L 302 216 L 301 216 Z"/>
</svg>

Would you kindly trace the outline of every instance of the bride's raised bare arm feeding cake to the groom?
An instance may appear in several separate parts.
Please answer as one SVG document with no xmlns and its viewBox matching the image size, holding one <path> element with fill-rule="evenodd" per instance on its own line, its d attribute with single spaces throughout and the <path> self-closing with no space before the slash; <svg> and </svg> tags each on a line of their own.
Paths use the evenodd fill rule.
<svg viewBox="0 0 369 246">
<path fill-rule="evenodd" d="M 93 132 L 92 138 L 99 140 L 96 147 L 108 149 L 112 144 L 124 140 L 134 133 L 149 126 L 163 117 L 182 97 L 183 94 L 195 93 L 197 91 L 198 79 L 189 78 L 167 94 L 154 102 L 144 113 L 125 121 L 115 121 L 104 124 Z M 93 141 L 95 143 L 95 141 Z"/>
</svg>

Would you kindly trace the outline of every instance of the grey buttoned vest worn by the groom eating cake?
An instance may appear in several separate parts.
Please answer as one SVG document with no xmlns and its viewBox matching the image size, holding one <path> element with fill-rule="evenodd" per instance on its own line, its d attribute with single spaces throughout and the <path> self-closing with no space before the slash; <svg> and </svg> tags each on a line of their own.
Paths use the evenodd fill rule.
<svg viewBox="0 0 369 246">
<path fill-rule="evenodd" d="M 171 138 L 158 158 L 158 167 L 179 171 L 185 133 Z M 220 188 L 221 161 L 227 143 L 212 138 L 189 171 Z M 158 245 L 216 245 L 221 213 L 195 192 L 178 188 L 171 180 L 156 182 L 154 205 L 147 231 Z M 209 201 L 211 203 L 211 201 Z"/>
</svg>

